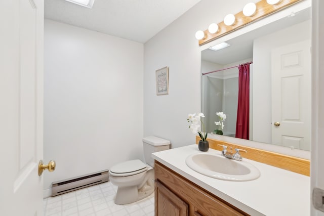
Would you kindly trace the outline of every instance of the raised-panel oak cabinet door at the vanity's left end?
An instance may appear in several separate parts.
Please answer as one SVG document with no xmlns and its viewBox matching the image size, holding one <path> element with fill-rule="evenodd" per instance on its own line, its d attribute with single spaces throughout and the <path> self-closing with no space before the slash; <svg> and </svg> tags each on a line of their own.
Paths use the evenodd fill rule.
<svg viewBox="0 0 324 216">
<path fill-rule="evenodd" d="M 189 206 L 160 182 L 155 182 L 155 216 L 187 216 Z"/>
</svg>

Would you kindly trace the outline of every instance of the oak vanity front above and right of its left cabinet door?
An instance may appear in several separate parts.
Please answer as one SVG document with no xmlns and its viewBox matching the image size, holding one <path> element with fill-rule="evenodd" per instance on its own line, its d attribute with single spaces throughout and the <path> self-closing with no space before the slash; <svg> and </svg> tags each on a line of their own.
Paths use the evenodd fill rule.
<svg viewBox="0 0 324 216">
<path fill-rule="evenodd" d="M 189 205 L 189 215 L 249 215 L 155 161 L 155 180 Z"/>
</svg>

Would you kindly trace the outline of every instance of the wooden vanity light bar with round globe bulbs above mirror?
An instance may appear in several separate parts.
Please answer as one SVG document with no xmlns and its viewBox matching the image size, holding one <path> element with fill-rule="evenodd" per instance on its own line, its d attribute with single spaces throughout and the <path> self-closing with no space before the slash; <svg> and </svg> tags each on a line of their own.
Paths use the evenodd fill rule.
<svg viewBox="0 0 324 216">
<path fill-rule="evenodd" d="M 243 11 L 235 15 L 229 14 L 224 18 L 223 22 L 216 24 L 218 26 L 216 32 L 209 31 L 210 28 L 205 31 L 197 31 L 197 33 L 199 32 L 199 37 L 197 37 L 196 33 L 198 44 L 199 46 L 207 44 L 208 42 L 224 36 L 225 34 L 228 34 L 242 26 L 245 26 L 253 21 L 268 16 L 300 1 L 302 0 L 261 0 L 256 4 L 248 3 L 244 7 Z"/>
</svg>

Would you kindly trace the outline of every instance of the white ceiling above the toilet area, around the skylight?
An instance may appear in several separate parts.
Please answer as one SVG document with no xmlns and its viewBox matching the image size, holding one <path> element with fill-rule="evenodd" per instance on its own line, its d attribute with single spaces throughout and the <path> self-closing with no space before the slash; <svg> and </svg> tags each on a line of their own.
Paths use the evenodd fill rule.
<svg viewBox="0 0 324 216">
<path fill-rule="evenodd" d="M 45 0 L 45 18 L 145 43 L 201 0 Z"/>
</svg>

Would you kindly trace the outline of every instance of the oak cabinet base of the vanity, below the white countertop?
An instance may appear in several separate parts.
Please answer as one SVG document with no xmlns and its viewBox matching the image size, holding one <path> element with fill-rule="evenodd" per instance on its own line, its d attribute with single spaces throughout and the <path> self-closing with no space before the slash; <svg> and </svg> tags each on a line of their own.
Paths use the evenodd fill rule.
<svg viewBox="0 0 324 216">
<path fill-rule="evenodd" d="M 249 215 L 156 161 L 155 178 L 155 215 Z"/>
</svg>

